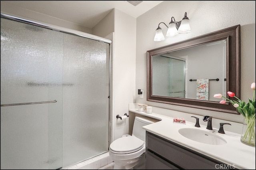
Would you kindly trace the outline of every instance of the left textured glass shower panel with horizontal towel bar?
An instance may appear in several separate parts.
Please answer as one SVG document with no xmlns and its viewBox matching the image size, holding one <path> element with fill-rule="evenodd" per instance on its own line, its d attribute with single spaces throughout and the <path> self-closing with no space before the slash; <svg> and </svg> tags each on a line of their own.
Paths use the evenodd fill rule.
<svg viewBox="0 0 256 170">
<path fill-rule="evenodd" d="M 63 34 L 1 18 L 1 169 L 62 167 Z"/>
</svg>

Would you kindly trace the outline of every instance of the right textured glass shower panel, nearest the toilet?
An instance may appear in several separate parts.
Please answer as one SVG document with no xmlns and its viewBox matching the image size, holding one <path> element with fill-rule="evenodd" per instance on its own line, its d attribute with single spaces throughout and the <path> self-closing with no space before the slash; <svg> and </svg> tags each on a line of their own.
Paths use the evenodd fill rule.
<svg viewBox="0 0 256 170">
<path fill-rule="evenodd" d="M 108 46 L 64 34 L 63 167 L 108 151 Z"/>
</svg>

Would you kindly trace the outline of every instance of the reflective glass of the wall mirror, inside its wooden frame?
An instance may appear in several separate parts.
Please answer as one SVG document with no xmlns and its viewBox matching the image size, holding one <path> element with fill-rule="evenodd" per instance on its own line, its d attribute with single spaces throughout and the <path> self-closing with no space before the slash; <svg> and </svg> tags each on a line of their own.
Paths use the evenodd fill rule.
<svg viewBox="0 0 256 170">
<path fill-rule="evenodd" d="M 226 94 L 226 40 L 152 55 L 152 95 L 218 101 L 217 93 Z"/>
</svg>

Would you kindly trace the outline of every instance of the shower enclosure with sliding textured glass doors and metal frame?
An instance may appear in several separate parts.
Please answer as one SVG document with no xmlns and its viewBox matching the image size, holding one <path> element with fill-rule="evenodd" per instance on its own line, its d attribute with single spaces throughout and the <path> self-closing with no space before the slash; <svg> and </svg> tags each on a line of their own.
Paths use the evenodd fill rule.
<svg viewBox="0 0 256 170">
<path fill-rule="evenodd" d="M 1 14 L 1 169 L 108 152 L 111 40 Z"/>
</svg>

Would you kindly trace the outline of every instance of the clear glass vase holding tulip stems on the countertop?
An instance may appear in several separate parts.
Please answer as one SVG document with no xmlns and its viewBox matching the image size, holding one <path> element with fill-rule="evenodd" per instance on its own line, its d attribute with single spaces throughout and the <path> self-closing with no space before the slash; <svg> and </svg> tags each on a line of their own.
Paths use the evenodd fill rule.
<svg viewBox="0 0 256 170">
<path fill-rule="evenodd" d="M 254 119 L 244 119 L 240 141 L 255 146 L 255 117 Z"/>
</svg>

